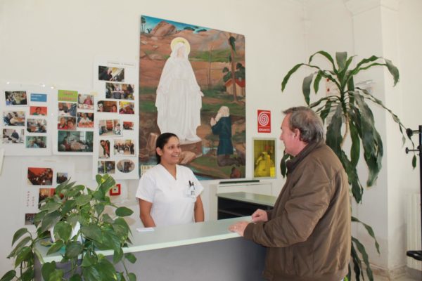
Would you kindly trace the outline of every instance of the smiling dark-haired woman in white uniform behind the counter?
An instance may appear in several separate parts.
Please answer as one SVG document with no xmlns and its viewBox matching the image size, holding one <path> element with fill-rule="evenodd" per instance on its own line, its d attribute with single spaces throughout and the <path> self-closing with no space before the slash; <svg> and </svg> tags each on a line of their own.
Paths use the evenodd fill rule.
<svg viewBox="0 0 422 281">
<path fill-rule="evenodd" d="M 191 169 L 180 166 L 180 142 L 174 133 L 162 133 L 155 144 L 157 166 L 139 181 L 141 221 L 145 227 L 204 221 L 200 184 Z"/>
</svg>

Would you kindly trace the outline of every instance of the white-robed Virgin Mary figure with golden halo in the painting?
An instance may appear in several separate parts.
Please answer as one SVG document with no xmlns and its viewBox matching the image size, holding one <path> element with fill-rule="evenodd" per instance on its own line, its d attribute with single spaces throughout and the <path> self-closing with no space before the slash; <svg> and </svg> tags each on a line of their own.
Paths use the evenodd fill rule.
<svg viewBox="0 0 422 281">
<path fill-rule="evenodd" d="M 182 37 L 174 38 L 170 46 L 172 54 L 162 69 L 155 100 L 157 124 L 161 133 L 174 133 L 180 141 L 200 141 L 196 128 L 203 93 L 188 60 L 191 47 Z"/>
</svg>

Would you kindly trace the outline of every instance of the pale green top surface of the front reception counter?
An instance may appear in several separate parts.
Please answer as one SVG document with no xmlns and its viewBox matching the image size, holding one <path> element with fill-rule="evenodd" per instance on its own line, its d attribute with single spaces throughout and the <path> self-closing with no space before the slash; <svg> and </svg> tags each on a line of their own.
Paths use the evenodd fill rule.
<svg viewBox="0 0 422 281">
<path fill-rule="evenodd" d="M 132 240 L 132 244 L 130 244 L 129 247 L 123 248 L 123 251 L 125 253 L 148 251 L 152 249 L 177 247 L 187 244 L 198 244 L 240 237 L 237 233 L 231 233 L 229 231 L 229 226 L 236 221 L 251 221 L 251 218 L 250 216 L 244 216 L 219 221 L 188 223 L 177 226 L 161 226 L 153 228 L 152 231 L 145 232 L 136 230 L 136 228 L 141 228 L 139 223 L 138 226 L 131 227 L 132 236 L 129 238 Z M 49 247 L 39 246 L 38 249 L 44 262 L 59 262 L 62 259 L 60 252 L 47 256 L 46 252 L 49 250 Z M 98 251 L 98 254 L 111 256 L 113 255 L 113 251 Z"/>
</svg>

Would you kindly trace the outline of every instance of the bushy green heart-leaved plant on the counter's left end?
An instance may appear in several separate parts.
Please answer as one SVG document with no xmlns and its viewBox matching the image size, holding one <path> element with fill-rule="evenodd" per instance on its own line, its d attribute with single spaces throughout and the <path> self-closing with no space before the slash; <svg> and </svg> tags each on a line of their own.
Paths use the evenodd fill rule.
<svg viewBox="0 0 422 281">
<path fill-rule="evenodd" d="M 57 186 L 52 197 L 40 202 L 40 211 L 34 217 L 37 233 L 20 228 L 13 235 L 15 247 L 8 258 L 15 259 L 15 269 L 19 270 L 8 271 L 1 281 L 34 280 L 35 256 L 41 261 L 44 280 L 136 280 L 134 273 L 129 273 L 124 265 L 125 260 L 134 263 L 136 258 L 122 250 L 130 242 L 129 226 L 123 217 L 133 211 L 110 202 L 108 192 L 115 186 L 111 176 L 97 175 L 96 182 L 97 188 L 91 190 L 65 181 Z M 112 217 L 107 213 L 113 209 Z M 75 226 L 80 226 L 76 233 Z M 50 239 L 51 230 L 54 242 Z M 55 261 L 44 263 L 39 247 L 49 247 L 47 254 L 59 252 L 60 263 L 68 269 L 59 267 Z M 113 250 L 113 263 L 96 250 Z M 124 272 L 115 269 L 119 262 Z"/>
</svg>

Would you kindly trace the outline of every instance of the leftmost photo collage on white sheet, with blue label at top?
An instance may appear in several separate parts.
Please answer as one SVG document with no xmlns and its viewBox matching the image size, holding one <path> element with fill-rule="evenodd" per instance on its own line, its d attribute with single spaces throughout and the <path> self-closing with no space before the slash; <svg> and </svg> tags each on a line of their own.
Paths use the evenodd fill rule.
<svg viewBox="0 0 422 281">
<path fill-rule="evenodd" d="M 8 85 L 2 91 L 1 143 L 6 155 L 51 155 L 48 90 Z"/>
</svg>

